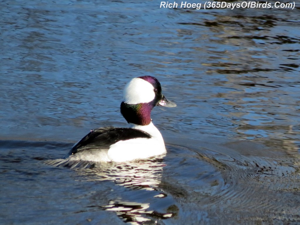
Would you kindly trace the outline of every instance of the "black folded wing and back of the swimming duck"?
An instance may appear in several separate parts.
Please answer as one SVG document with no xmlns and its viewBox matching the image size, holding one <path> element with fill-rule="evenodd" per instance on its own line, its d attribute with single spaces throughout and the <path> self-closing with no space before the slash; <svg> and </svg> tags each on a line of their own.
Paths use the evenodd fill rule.
<svg viewBox="0 0 300 225">
<path fill-rule="evenodd" d="M 70 155 L 74 155 L 85 149 L 109 149 L 109 147 L 118 141 L 129 140 L 133 138 L 151 138 L 151 135 L 134 128 L 114 128 L 105 127 L 92 130 L 78 143 L 76 143 L 70 151 Z"/>
</svg>

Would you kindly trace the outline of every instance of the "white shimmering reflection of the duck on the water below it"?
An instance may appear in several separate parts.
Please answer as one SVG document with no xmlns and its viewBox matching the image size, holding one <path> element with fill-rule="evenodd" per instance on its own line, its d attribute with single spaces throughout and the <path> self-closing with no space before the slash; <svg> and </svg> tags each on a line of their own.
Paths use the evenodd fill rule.
<svg viewBox="0 0 300 225">
<path fill-rule="evenodd" d="M 150 160 L 141 160 L 126 163 L 107 163 L 92 169 L 76 169 L 76 172 L 88 181 L 112 181 L 131 190 L 152 191 L 152 198 L 165 198 L 167 194 L 159 190 L 161 177 L 163 175 L 164 156 Z M 134 195 L 135 193 L 133 193 Z M 141 199 L 142 200 L 142 199 Z M 143 199 L 145 200 L 145 199 Z M 155 200 L 158 204 L 158 200 Z M 141 224 L 143 222 L 157 223 L 158 219 L 167 219 L 173 216 L 174 205 L 167 206 L 166 212 L 159 212 L 159 207 L 151 210 L 150 202 L 126 201 L 126 199 L 111 199 L 108 205 L 102 208 L 114 211 L 124 222 L 130 224 Z M 163 204 L 166 208 L 166 205 Z M 153 207 L 152 207 L 153 208 Z M 171 212 L 172 211 L 172 212 Z"/>
</svg>

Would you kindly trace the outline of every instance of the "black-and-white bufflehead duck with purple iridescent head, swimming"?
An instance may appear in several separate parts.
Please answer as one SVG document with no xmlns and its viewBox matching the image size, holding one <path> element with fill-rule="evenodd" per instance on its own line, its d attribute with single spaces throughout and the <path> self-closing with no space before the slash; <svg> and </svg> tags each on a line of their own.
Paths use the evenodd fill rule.
<svg viewBox="0 0 300 225">
<path fill-rule="evenodd" d="M 176 107 L 162 95 L 161 84 L 155 77 L 132 79 L 125 86 L 121 103 L 121 114 L 131 127 L 92 130 L 72 147 L 64 162 L 125 162 L 165 154 L 163 137 L 150 118 L 157 105 Z"/>
</svg>

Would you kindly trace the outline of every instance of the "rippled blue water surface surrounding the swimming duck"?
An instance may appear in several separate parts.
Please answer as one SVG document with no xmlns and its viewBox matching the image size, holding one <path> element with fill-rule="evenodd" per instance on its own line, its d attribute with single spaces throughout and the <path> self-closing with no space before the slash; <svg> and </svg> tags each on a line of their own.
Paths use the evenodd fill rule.
<svg viewBox="0 0 300 225">
<path fill-rule="evenodd" d="M 0 2 L 1 224 L 300 223 L 300 5 L 159 5 Z M 43 164 L 127 126 L 122 89 L 144 75 L 177 104 L 152 112 L 165 157 Z"/>
</svg>

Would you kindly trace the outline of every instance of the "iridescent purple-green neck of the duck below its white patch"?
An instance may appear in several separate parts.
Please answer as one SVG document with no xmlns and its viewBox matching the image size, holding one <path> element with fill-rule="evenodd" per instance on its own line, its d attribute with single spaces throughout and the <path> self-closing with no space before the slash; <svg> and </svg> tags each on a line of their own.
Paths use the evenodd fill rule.
<svg viewBox="0 0 300 225">
<path fill-rule="evenodd" d="M 121 103 L 121 113 L 128 123 L 135 125 L 149 125 L 151 123 L 151 110 L 153 105 L 149 103 L 127 104 Z"/>
</svg>

